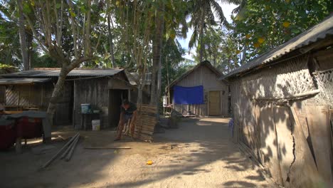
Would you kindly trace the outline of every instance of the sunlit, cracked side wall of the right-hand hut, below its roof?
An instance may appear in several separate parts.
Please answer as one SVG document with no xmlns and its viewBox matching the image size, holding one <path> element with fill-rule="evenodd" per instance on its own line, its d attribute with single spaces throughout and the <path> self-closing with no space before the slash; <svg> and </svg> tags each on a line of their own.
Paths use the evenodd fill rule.
<svg viewBox="0 0 333 188">
<path fill-rule="evenodd" d="M 329 187 L 333 179 L 328 106 L 332 70 L 312 76 L 308 57 L 231 82 L 233 139 L 247 145 L 275 182 L 285 187 Z M 314 90 L 319 94 L 293 97 Z"/>
</svg>

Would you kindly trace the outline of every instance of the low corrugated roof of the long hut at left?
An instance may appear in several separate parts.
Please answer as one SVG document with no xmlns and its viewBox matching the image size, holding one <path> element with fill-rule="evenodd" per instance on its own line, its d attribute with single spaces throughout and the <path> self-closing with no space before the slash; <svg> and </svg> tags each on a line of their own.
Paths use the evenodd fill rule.
<svg viewBox="0 0 333 188">
<path fill-rule="evenodd" d="M 68 73 L 67 77 L 93 77 L 93 76 L 108 76 L 120 73 L 123 69 L 73 69 Z M 21 71 L 17 73 L 0 75 L 6 78 L 48 78 L 58 77 L 60 68 L 43 68 L 33 69 L 30 71 Z"/>
</svg>

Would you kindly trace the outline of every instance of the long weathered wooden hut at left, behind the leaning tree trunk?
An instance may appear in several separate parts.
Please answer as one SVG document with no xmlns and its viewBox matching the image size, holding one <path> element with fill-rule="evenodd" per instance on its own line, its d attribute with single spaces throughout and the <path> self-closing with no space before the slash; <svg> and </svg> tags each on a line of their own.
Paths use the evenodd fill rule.
<svg viewBox="0 0 333 188">
<path fill-rule="evenodd" d="M 59 68 L 36 68 L 0 75 L 6 110 L 46 110 L 59 73 Z M 131 85 L 122 69 L 77 68 L 68 73 L 64 88 L 54 122 L 81 129 L 90 127 L 92 119 L 99 119 L 102 127 L 117 126 L 122 98 L 128 98 Z M 95 113 L 82 114 L 85 103 Z"/>
</svg>

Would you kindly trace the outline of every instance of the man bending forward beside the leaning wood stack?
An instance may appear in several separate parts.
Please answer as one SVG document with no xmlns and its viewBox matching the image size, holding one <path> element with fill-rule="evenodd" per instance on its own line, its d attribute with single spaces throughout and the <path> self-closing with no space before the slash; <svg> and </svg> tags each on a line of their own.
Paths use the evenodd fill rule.
<svg viewBox="0 0 333 188">
<path fill-rule="evenodd" d="M 130 103 L 127 99 L 122 100 L 122 106 L 120 107 L 120 120 L 117 129 L 117 137 L 115 141 L 122 138 L 122 130 L 124 125 L 131 121 L 129 127 L 131 130 L 131 136 L 134 136 L 134 122 L 137 120 L 137 106 L 134 103 Z"/>
</svg>

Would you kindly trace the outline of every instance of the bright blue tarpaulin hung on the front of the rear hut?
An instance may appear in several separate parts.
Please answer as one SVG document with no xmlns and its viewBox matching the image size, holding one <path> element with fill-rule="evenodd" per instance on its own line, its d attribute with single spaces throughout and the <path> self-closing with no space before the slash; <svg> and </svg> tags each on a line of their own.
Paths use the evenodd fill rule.
<svg viewBox="0 0 333 188">
<path fill-rule="evenodd" d="M 181 87 L 174 86 L 174 103 L 183 105 L 203 104 L 203 86 Z"/>
</svg>

